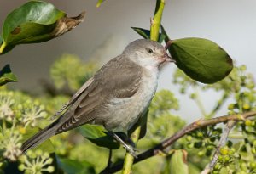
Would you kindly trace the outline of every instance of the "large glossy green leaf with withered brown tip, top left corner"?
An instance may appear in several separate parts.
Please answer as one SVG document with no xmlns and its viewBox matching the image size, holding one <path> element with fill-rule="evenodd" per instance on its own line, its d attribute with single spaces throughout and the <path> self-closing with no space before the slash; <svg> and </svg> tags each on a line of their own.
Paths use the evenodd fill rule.
<svg viewBox="0 0 256 174">
<path fill-rule="evenodd" d="M 84 12 L 73 18 L 66 15 L 52 4 L 40 1 L 30 1 L 16 8 L 3 22 L 0 54 L 7 53 L 18 44 L 49 41 L 84 20 Z"/>
</svg>

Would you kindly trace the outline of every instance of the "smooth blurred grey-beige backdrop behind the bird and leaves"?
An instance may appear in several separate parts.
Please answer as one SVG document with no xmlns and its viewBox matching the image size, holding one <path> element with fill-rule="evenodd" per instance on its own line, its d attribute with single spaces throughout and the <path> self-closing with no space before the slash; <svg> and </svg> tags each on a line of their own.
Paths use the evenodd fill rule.
<svg viewBox="0 0 256 174">
<path fill-rule="evenodd" d="M 0 0 L 0 25 L 14 8 L 25 0 Z M 86 11 L 84 23 L 64 36 L 45 43 L 20 45 L 0 56 L 0 67 L 10 64 L 18 83 L 10 87 L 40 90 L 39 79 L 49 78 L 49 66 L 63 53 L 82 59 L 100 59 L 102 64 L 117 56 L 129 42 L 140 38 L 131 26 L 149 28 L 154 14 L 153 0 L 107 0 L 96 8 L 96 0 L 51 0 L 69 16 Z M 217 42 L 236 60 L 256 74 L 256 1 L 255 0 L 166 0 L 162 24 L 172 39 L 203 37 Z M 180 99 L 178 115 L 188 121 L 200 118 L 199 109 L 188 96 L 180 95 L 172 84 L 176 65 L 167 65 L 160 76 L 159 89 L 172 90 Z M 218 94 L 202 95 L 207 109 L 213 107 Z M 218 115 L 224 114 L 222 109 Z"/>
</svg>

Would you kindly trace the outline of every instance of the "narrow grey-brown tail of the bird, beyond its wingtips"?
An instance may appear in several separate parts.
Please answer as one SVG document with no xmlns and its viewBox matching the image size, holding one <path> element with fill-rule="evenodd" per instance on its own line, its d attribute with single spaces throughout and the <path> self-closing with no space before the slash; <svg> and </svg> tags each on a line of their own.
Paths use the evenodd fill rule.
<svg viewBox="0 0 256 174">
<path fill-rule="evenodd" d="M 45 140 L 55 135 L 55 123 L 46 126 L 43 130 L 26 140 L 21 146 L 21 151 L 26 153 L 28 149 L 32 149 L 38 146 L 40 143 L 44 143 Z"/>
</svg>

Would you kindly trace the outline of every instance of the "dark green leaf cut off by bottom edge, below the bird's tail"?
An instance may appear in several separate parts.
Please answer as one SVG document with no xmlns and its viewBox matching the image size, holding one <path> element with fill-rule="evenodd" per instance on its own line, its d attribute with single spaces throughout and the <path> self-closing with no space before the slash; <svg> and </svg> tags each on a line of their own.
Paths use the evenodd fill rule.
<svg viewBox="0 0 256 174">
<path fill-rule="evenodd" d="M 58 164 L 67 174 L 94 174 L 94 166 L 87 161 L 70 160 L 67 158 L 60 158 L 57 156 Z"/>
</svg>

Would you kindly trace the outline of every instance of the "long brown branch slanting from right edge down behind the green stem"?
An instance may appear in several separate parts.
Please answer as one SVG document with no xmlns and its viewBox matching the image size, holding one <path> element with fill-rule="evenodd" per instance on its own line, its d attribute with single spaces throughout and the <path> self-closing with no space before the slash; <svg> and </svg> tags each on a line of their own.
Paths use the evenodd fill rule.
<svg viewBox="0 0 256 174">
<path fill-rule="evenodd" d="M 256 111 L 251 111 L 243 114 L 238 115 L 224 115 L 216 118 L 212 118 L 209 120 L 200 119 L 198 121 L 195 121 L 188 126 L 183 127 L 183 129 L 177 133 L 175 133 L 171 138 L 167 138 L 162 143 L 156 145 L 152 149 L 148 149 L 147 151 L 143 152 L 142 154 L 138 155 L 138 158 L 134 160 L 134 164 L 137 162 L 140 162 L 142 160 L 146 160 L 160 152 L 163 149 L 166 149 L 172 143 L 175 143 L 179 138 L 182 138 L 184 135 L 186 135 L 189 132 L 195 131 L 196 129 L 199 129 L 201 127 L 210 126 L 210 125 L 216 125 L 218 123 L 226 122 L 226 121 L 244 121 L 245 119 L 255 116 Z M 101 173 L 114 173 L 116 171 L 121 170 L 122 166 L 124 164 L 124 161 L 121 161 L 119 164 L 116 164 L 109 168 L 108 170 L 103 170 Z"/>
</svg>

